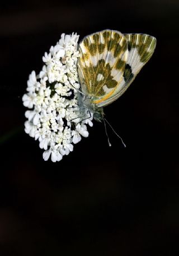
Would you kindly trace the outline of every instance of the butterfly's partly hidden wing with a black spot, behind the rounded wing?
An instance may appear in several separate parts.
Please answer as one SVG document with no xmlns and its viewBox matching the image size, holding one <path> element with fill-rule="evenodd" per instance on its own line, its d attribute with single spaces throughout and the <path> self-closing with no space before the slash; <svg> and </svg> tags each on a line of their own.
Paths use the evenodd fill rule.
<svg viewBox="0 0 179 256">
<path fill-rule="evenodd" d="M 112 94 L 109 99 L 97 104 L 98 107 L 112 103 L 128 89 L 140 69 L 152 57 L 156 48 L 156 38 L 153 36 L 147 34 L 126 34 L 125 37 L 128 41 L 128 59 L 125 64 L 123 79 L 118 85 L 116 93 Z"/>
</svg>

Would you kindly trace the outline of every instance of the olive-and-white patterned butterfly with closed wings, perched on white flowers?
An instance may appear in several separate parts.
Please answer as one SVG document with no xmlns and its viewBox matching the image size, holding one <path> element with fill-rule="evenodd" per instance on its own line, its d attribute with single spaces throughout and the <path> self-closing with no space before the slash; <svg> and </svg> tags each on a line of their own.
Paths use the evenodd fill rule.
<svg viewBox="0 0 179 256">
<path fill-rule="evenodd" d="M 93 118 L 103 119 L 103 107 L 117 100 L 156 48 L 156 38 L 147 34 L 122 34 L 102 30 L 79 43 L 77 68 L 83 104 Z"/>
</svg>

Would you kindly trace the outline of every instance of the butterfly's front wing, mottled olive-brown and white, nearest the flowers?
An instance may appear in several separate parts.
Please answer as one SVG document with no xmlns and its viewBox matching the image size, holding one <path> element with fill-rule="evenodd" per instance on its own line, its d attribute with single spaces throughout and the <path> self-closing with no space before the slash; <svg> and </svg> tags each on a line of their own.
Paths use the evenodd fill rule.
<svg viewBox="0 0 179 256">
<path fill-rule="evenodd" d="M 91 102 L 100 104 L 117 94 L 128 59 L 126 36 L 115 30 L 96 32 L 81 41 L 79 52 L 79 80 Z"/>
</svg>

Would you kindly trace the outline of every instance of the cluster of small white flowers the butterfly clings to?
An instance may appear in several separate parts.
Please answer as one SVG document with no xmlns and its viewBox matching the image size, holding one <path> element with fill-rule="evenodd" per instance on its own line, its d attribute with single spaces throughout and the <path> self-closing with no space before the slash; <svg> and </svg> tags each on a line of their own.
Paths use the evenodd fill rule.
<svg viewBox="0 0 179 256">
<path fill-rule="evenodd" d="M 73 151 L 73 143 L 88 137 L 86 124 L 93 125 L 92 113 L 78 105 L 78 38 L 74 33 L 61 35 L 50 53 L 45 53 L 39 75 L 30 74 L 22 97 L 23 105 L 30 109 L 25 113 L 25 132 L 39 140 L 45 161 L 50 156 L 53 162 L 62 160 Z"/>
</svg>

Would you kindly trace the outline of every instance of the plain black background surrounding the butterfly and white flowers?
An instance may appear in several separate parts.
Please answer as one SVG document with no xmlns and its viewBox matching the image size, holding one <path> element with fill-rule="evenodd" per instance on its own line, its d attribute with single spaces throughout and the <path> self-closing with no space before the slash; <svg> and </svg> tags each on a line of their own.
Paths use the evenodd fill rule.
<svg viewBox="0 0 179 256">
<path fill-rule="evenodd" d="M 178 253 L 177 0 L 4 1 L 0 9 L 0 255 Z M 23 132 L 22 95 L 60 34 L 143 32 L 157 48 L 103 124 L 60 162 Z"/>
</svg>

